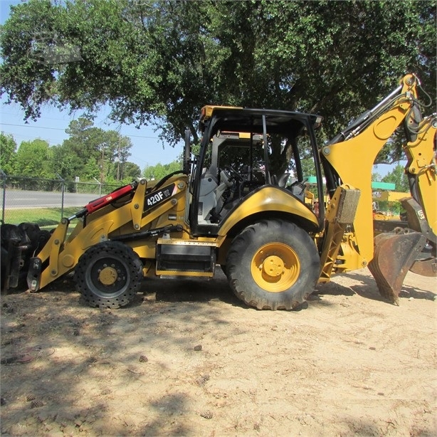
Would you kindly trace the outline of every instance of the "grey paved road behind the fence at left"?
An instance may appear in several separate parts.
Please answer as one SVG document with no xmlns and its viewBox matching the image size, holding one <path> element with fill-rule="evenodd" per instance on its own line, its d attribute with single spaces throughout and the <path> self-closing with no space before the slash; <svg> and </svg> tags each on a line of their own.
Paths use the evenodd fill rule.
<svg viewBox="0 0 437 437">
<path fill-rule="evenodd" d="M 98 197 L 98 194 L 64 193 L 64 208 L 68 206 L 82 208 Z M 0 193 L 0 200 L 3 205 L 3 191 Z M 6 189 L 6 209 L 60 208 L 61 204 L 62 194 L 60 192 Z"/>
</svg>

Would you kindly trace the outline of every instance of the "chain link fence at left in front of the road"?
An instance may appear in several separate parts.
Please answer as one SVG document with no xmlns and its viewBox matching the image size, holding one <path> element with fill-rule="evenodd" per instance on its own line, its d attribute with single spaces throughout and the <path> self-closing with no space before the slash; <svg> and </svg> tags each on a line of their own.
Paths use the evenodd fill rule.
<svg viewBox="0 0 437 437">
<path fill-rule="evenodd" d="M 105 196 L 119 185 L 98 182 L 40 179 L 0 174 L 1 221 L 56 226 L 60 219 L 75 214 L 88 202 Z"/>
</svg>

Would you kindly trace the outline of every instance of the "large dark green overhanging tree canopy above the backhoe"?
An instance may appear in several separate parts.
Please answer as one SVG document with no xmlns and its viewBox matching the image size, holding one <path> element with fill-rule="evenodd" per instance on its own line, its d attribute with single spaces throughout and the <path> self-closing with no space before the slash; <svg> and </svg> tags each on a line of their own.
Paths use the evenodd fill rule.
<svg viewBox="0 0 437 437">
<path fill-rule="evenodd" d="M 0 92 L 30 118 L 110 105 L 172 145 L 209 103 L 317 112 L 329 139 L 405 73 L 436 96 L 435 42 L 435 0 L 29 0 L 2 28 Z"/>
</svg>

